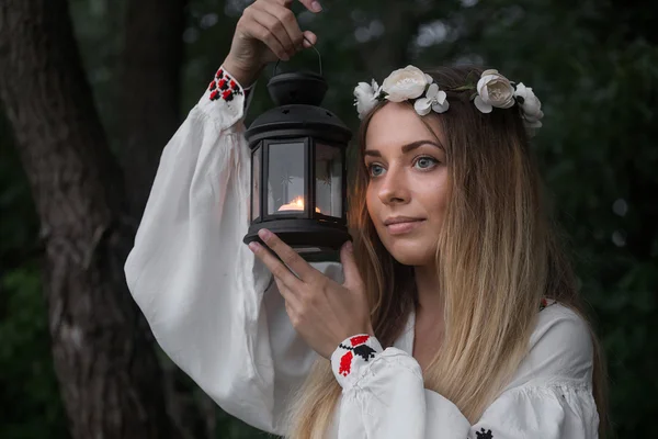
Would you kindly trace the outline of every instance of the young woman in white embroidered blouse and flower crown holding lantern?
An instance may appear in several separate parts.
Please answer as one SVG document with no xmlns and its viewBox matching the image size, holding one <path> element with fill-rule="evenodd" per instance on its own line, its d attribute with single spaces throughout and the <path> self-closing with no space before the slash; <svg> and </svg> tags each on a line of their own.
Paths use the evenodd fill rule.
<svg viewBox="0 0 658 439">
<path fill-rule="evenodd" d="M 242 244 L 248 87 L 317 41 L 290 3 L 246 9 L 163 150 L 126 262 L 160 346 L 227 413 L 295 439 L 599 437 L 602 361 L 542 204 L 526 130 L 543 113 L 522 83 L 412 66 L 360 83 L 353 249 L 309 264 L 263 233 L 284 264 Z"/>
</svg>

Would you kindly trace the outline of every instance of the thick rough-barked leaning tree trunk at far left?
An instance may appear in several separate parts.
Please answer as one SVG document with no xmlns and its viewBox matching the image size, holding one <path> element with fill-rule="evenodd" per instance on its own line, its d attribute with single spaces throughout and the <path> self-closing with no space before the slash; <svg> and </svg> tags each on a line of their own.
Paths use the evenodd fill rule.
<svg viewBox="0 0 658 439">
<path fill-rule="evenodd" d="M 121 172 L 66 0 L 0 0 L 0 99 L 46 248 L 53 356 L 73 438 L 177 437 L 146 324 L 125 285 Z"/>
</svg>

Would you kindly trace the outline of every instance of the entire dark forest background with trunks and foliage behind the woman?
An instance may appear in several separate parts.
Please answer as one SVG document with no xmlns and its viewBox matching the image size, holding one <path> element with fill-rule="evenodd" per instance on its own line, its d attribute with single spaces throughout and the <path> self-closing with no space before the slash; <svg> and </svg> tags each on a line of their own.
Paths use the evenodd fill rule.
<svg viewBox="0 0 658 439">
<path fill-rule="evenodd" d="M 243 0 L 0 0 L 0 438 L 263 436 L 159 351 L 125 286 L 159 155 Z M 324 105 L 413 64 L 533 87 L 534 139 L 608 357 L 616 437 L 658 415 L 658 2 L 324 0 Z M 295 66 L 315 67 L 313 52 Z M 248 122 L 271 106 L 259 81 Z"/>
</svg>

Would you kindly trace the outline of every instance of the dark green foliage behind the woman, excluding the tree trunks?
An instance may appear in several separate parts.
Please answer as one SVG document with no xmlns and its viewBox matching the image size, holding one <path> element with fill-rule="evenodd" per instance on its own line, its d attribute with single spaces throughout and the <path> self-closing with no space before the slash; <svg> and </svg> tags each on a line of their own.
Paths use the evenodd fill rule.
<svg viewBox="0 0 658 439">
<path fill-rule="evenodd" d="M 192 0 L 183 72 L 183 112 L 194 105 L 224 59 L 245 1 Z M 72 0 L 77 35 L 110 140 L 116 142 L 125 1 Z M 110 8 L 109 5 L 113 7 Z M 319 36 L 330 85 L 325 106 L 352 128 L 352 89 L 412 63 L 481 63 L 532 87 L 544 127 L 534 140 L 552 205 L 569 236 L 581 292 L 610 372 L 616 436 L 651 437 L 658 379 L 658 34 L 647 23 L 658 5 L 616 1 L 325 0 L 300 12 Z M 313 52 L 281 65 L 317 69 Z M 256 90 L 248 123 L 270 108 Z M 0 145 L 11 143 L 0 124 Z M 45 304 L 34 254 L 37 225 L 14 149 L 0 149 L 0 401 L 2 438 L 66 437 L 48 350 Z M 219 410 L 220 412 L 220 410 Z M 262 436 L 220 413 L 217 437 Z"/>
</svg>

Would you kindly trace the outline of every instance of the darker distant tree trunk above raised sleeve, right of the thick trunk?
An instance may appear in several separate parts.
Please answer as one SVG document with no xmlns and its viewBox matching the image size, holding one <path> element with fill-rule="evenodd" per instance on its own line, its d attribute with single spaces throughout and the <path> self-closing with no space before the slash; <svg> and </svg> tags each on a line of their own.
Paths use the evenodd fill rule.
<svg viewBox="0 0 658 439">
<path fill-rule="evenodd" d="M 132 0 L 123 52 L 121 165 L 132 215 L 141 217 L 162 148 L 180 125 L 186 0 Z"/>
</svg>

